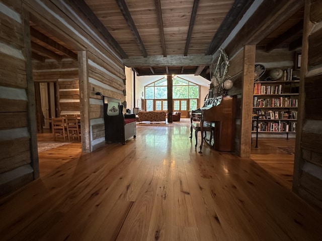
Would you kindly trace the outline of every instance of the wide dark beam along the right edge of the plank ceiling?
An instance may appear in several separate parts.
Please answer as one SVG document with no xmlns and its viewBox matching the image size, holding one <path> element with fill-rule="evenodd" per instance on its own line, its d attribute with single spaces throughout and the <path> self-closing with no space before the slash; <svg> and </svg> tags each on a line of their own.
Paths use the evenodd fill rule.
<svg viewBox="0 0 322 241">
<path fill-rule="evenodd" d="M 229 10 L 228 14 L 222 21 L 222 24 L 213 36 L 212 41 L 205 52 L 206 55 L 212 55 L 220 48 L 221 44 L 236 27 L 240 19 L 243 18 L 244 14 L 251 7 L 253 2 L 254 0 L 236 0 L 234 2 L 232 8 Z"/>
</svg>

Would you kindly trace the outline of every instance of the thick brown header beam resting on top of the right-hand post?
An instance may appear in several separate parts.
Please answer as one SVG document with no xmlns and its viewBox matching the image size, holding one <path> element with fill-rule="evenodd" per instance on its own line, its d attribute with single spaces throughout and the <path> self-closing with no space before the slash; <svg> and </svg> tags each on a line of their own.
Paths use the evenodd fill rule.
<svg viewBox="0 0 322 241">
<path fill-rule="evenodd" d="M 303 7 L 303 1 L 263 0 L 243 27 L 225 47 L 228 56 L 234 55 L 245 45 L 257 45 L 282 23 Z"/>
</svg>

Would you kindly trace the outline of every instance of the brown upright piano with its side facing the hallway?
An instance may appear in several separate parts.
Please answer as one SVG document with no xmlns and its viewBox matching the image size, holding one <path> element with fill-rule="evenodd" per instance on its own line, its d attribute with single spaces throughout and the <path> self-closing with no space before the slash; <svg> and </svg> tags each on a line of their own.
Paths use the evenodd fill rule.
<svg viewBox="0 0 322 241">
<path fill-rule="evenodd" d="M 236 96 L 221 95 L 208 98 L 204 106 L 191 112 L 191 123 L 193 120 L 200 120 L 201 144 L 204 140 L 203 127 L 213 128 L 213 139 L 208 144 L 217 151 L 231 152 L 234 150 L 236 118 Z M 212 136 L 212 135 L 210 135 Z"/>
</svg>

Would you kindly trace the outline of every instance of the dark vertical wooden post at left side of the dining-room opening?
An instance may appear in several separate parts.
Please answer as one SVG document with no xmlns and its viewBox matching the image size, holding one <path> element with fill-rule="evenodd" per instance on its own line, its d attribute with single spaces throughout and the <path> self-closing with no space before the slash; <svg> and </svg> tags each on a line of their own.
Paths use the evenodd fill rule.
<svg viewBox="0 0 322 241">
<path fill-rule="evenodd" d="M 39 177 L 39 160 L 38 160 L 38 146 L 37 146 L 37 126 L 36 126 L 36 108 L 35 108 L 35 92 L 34 81 L 32 73 L 32 58 L 31 58 L 31 38 L 29 26 L 29 13 L 23 9 L 22 11 L 24 41 L 25 48 L 23 54 L 26 59 L 26 77 L 27 77 L 27 97 L 28 97 L 28 130 L 30 132 L 30 157 L 31 167 L 33 169 L 33 179 Z"/>
</svg>

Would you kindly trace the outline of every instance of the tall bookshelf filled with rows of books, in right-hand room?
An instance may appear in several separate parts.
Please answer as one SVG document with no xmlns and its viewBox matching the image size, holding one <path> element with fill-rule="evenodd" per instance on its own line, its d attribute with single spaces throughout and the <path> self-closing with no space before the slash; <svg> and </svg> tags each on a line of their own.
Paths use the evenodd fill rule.
<svg viewBox="0 0 322 241">
<path fill-rule="evenodd" d="M 289 76 L 289 70 L 284 76 Z M 259 133 L 296 132 L 299 80 L 254 82 L 253 129 Z M 258 123 L 257 123 L 258 122 Z"/>
</svg>

